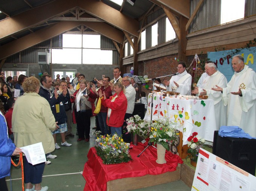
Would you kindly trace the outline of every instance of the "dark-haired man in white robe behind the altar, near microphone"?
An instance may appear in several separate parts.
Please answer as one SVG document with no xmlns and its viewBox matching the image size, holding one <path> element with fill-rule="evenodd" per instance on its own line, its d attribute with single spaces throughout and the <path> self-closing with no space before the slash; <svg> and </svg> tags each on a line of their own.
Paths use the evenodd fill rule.
<svg viewBox="0 0 256 191">
<path fill-rule="evenodd" d="M 185 62 L 179 62 L 177 69 L 178 75 L 172 76 L 170 81 L 163 81 L 167 86 L 166 90 L 172 91 L 172 87 L 177 87 L 175 92 L 179 92 L 181 95 L 191 95 L 192 76 L 187 73 Z"/>
</svg>

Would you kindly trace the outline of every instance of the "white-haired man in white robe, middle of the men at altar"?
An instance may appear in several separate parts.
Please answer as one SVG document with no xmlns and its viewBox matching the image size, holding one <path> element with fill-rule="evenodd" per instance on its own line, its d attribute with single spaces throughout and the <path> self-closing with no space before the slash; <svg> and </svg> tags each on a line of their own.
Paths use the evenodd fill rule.
<svg viewBox="0 0 256 191">
<path fill-rule="evenodd" d="M 214 91 L 211 88 L 216 88 L 216 84 L 219 87 L 227 87 L 227 78 L 217 71 L 216 65 L 214 63 L 205 64 L 205 72 L 208 77 L 204 79 L 204 83 L 201 87 L 195 87 L 192 94 L 208 95 L 208 99 L 214 101 L 214 111 L 216 126 L 219 129 L 220 126 L 226 126 L 227 119 L 227 107 L 224 106 L 222 101 L 222 93 L 220 91 Z M 214 132 L 213 132 L 214 133 Z"/>
</svg>

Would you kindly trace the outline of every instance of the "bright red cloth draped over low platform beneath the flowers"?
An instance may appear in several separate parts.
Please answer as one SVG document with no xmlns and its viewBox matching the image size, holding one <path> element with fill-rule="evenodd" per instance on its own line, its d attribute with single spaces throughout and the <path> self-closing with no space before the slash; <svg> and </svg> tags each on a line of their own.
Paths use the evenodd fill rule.
<svg viewBox="0 0 256 191">
<path fill-rule="evenodd" d="M 104 165 L 102 159 L 96 154 L 95 148 L 90 148 L 87 154 L 88 161 L 85 163 L 82 173 L 86 181 L 84 191 L 105 191 L 108 181 L 119 178 L 145 176 L 147 174 L 158 175 L 172 172 L 176 170 L 178 163 L 183 163 L 178 155 L 168 151 L 165 154 L 166 164 L 159 165 L 156 163 L 156 148 L 150 146 L 140 157 L 137 157 L 144 150 L 144 146 L 147 146 L 147 143 L 139 143 L 137 146 L 132 146 L 130 155 L 133 160 L 128 163 L 111 165 Z"/>
</svg>

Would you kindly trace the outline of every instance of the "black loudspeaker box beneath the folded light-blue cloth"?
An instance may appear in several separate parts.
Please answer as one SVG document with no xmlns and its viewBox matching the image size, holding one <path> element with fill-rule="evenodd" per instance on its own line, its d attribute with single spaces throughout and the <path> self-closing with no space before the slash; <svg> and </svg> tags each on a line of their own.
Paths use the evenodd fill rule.
<svg viewBox="0 0 256 191">
<path fill-rule="evenodd" d="M 213 154 L 255 176 L 256 139 L 221 137 L 214 131 Z"/>
</svg>

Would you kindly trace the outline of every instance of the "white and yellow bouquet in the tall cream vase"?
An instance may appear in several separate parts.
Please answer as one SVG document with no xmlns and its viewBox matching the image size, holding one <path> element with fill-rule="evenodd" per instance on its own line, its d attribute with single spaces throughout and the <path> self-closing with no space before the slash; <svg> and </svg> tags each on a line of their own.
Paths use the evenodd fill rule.
<svg viewBox="0 0 256 191">
<path fill-rule="evenodd" d="M 174 144 L 174 140 L 180 136 L 180 134 L 176 132 L 179 127 L 177 123 L 168 119 L 155 120 L 150 129 L 150 142 L 162 144 L 166 150 L 169 150 L 168 142 L 172 145 Z"/>
</svg>

